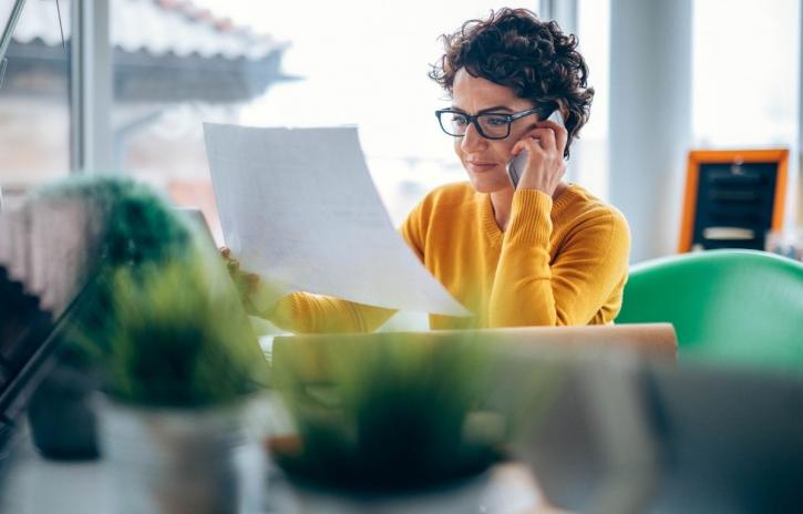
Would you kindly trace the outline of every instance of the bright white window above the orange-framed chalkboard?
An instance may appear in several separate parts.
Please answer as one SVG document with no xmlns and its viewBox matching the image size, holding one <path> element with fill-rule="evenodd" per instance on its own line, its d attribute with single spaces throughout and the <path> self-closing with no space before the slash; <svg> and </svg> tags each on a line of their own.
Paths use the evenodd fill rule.
<svg viewBox="0 0 803 514">
<path fill-rule="evenodd" d="M 800 2 L 694 1 L 698 146 L 795 146 Z"/>
</svg>

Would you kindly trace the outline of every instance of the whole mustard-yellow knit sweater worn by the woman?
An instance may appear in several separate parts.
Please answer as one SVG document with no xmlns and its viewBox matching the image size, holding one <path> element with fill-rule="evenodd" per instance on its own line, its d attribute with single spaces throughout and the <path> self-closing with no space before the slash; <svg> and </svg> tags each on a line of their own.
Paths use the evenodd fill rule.
<svg viewBox="0 0 803 514">
<path fill-rule="evenodd" d="M 555 202 L 517 191 L 507 229 L 491 197 L 442 186 L 401 227 L 410 247 L 474 316 L 430 316 L 432 329 L 606 323 L 621 307 L 630 233 L 625 217 L 577 185 Z M 372 331 L 393 310 L 297 292 L 268 318 L 294 332 Z"/>
</svg>

